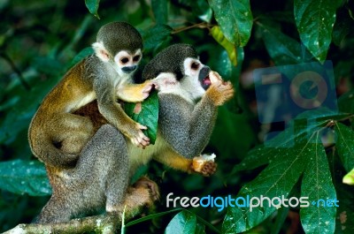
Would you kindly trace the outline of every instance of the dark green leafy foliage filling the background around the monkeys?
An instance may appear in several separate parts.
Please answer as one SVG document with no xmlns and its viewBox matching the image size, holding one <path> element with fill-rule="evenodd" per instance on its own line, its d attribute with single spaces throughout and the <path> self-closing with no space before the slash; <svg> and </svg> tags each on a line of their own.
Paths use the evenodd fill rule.
<svg viewBox="0 0 354 234">
<path fill-rule="evenodd" d="M 157 213 L 127 223 L 127 233 L 353 233 L 354 191 L 342 183 L 344 178 L 353 184 L 354 169 L 353 6 L 349 0 L 1 2 L 0 231 L 29 223 L 49 198 L 39 197 L 50 194 L 50 186 L 27 143 L 27 127 L 42 98 L 73 64 L 92 53 L 89 45 L 99 26 L 124 20 L 142 34 L 142 64 L 172 43 L 191 43 L 204 64 L 237 90 L 235 100 L 219 109 L 205 149 L 218 155 L 216 175 L 165 173 L 167 169 L 155 162 L 139 169 L 138 175 L 148 173 L 159 181 L 162 200 Z M 291 84 L 296 70 L 287 70 L 288 65 L 326 66 L 328 60 L 340 96 L 338 108 L 289 117 L 293 106 L 283 106 L 284 125 L 258 119 L 262 105 L 269 104 L 257 100 L 257 113 L 258 81 L 253 76 L 258 69 L 276 65 Z M 298 94 L 311 98 L 324 91 L 313 85 L 299 87 Z M 144 110 L 158 113 L 150 107 Z M 280 116 L 279 109 L 267 111 Z M 157 131 L 156 122 L 149 126 Z M 265 140 L 269 132 L 280 133 Z M 308 197 L 309 207 L 169 209 L 169 192 L 189 198 Z M 321 199 L 339 200 L 339 207 L 317 206 Z"/>
</svg>

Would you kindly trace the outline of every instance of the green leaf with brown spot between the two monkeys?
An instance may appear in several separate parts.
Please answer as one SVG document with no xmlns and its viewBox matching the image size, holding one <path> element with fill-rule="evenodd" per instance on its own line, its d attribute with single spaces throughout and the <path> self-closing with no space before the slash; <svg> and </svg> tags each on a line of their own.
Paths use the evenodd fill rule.
<svg viewBox="0 0 354 234">
<path fill-rule="evenodd" d="M 128 117 L 131 117 L 135 122 L 148 127 L 143 132 L 150 138 L 150 144 L 155 144 L 158 134 L 158 92 L 150 93 L 144 102 L 125 103 L 124 110 Z"/>
</svg>

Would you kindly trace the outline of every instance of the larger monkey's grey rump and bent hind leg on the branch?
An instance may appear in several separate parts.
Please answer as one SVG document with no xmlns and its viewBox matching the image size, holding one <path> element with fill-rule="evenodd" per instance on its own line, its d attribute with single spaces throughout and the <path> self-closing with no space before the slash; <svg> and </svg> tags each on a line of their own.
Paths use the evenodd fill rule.
<svg viewBox="0 0 354 234">
<path fill-rule="evenodd" d="M 123 202 L 127 190 L 126 139 L 112 125 L 103 125 L 83 147 L 73 169 L 47 170 L 53 194 L 37 223 L 96 215 L 105 204 L 114 209 Z"/>
</svg>

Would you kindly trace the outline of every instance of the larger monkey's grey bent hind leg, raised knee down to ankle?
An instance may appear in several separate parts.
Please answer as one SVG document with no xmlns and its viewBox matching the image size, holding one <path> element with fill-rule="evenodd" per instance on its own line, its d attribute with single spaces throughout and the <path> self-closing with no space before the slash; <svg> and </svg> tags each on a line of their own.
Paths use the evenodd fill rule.
<svg viewBox="0 0 354 234">
<path fill-rule="evenodd" d="M 73 172 L 73 185 L 82 186 L 92 206 L 105 200 L 107 212 L 115 212 L 122 203 L 129 183 L 127 140 L 112 125 L 103 125 L 82 149 Z"/>
</svg>

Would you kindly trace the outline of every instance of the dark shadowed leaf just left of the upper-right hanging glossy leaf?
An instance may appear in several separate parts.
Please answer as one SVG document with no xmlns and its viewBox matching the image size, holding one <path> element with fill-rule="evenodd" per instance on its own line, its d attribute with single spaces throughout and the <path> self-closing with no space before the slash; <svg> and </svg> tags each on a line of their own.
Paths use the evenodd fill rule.
<svg viewBox="0 0 354 234">
<path fill-rule="evenodd" d="M 261 29 L 266 50 L 275 64 L 302 64 L 311 60 L 311 55 L 301 47 L 299 42 L 282 34 L 279 29 L 274 29 L 274 26 L 266 23 L 259 23 L 258 26 Z"/>
</svg>

